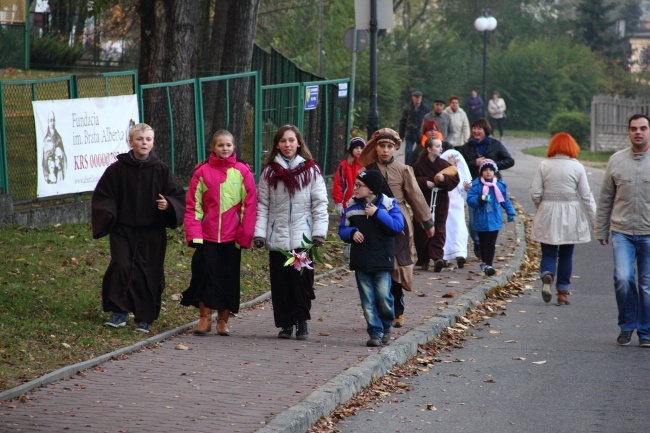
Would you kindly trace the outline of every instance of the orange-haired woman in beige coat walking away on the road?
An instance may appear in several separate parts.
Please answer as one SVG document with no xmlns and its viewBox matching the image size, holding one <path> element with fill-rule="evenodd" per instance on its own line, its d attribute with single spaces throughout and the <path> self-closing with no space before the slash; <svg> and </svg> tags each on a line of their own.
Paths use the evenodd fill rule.
<svg viewBox="0 0 650 433">
<path fill-rule="evenodd" d="M 550 302 L 556 280 L 557 305 L 569 304 L 573 247 L 591 240 L 596 213 L 587 173 L 575 159 L 579 152 L 571 135 L 555 134 L 530 186 L 537 209 L 531 235 L 542 246 L 542 298 Z"/>
</svg>

